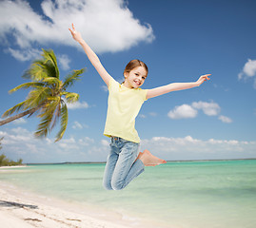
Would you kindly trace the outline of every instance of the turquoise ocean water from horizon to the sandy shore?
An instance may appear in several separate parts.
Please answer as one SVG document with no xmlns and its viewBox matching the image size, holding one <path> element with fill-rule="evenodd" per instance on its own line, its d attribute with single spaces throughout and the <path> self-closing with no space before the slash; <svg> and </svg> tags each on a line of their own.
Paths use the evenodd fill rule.
<svg viewBox="0 0 256 228">
<path fill-rule="evenodd" d="M 104 166 L 30 165 L 1 172 L 0 181 L 116 212 L 130 227 L 144 227 L 143 221 L 166 228 L 256 227 L 256 160 L 167 162 L 146 167 L 122 191 L 102 187 Z"/>
</svg>

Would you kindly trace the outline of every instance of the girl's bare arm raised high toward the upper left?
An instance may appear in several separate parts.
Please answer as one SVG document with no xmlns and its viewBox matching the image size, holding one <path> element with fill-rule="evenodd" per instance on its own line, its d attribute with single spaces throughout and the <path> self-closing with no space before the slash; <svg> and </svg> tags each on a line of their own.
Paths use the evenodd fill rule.
<svg viewBox="0 0 256 228">
<path fill-rule="evenodd" d="M 74 25 L 72 24 L 72 28 L 69 28 L 71 35 L 75 41 L 77 41 L 85 50 L 89 62 L 95 67 L 98 71 L 99 75 L 102 77 L 103 81 L 108 85 L 111 79 L 111 76 L 108 74 L 107 70 L 102 66 L 98 56 L 94 53 L 94 51 L 89 47 L 89 45 L 83 40 L 80 32 L 78 32 Z"/>
</svg>

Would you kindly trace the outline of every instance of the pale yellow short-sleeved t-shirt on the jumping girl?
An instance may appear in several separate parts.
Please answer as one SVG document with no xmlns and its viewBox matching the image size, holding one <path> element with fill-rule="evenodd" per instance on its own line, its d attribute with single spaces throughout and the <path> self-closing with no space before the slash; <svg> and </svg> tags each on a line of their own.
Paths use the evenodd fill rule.
<svg viewBox="0 0 256 228">
<path fill-rule="evenodd" d="M 104 135 L 140 142 L 135 129 L 135 118 L 142 104 L 147 100 L 148 89 L 130 89 L 111 78 L 108 93 L 108 114 Z"/>
</svg>

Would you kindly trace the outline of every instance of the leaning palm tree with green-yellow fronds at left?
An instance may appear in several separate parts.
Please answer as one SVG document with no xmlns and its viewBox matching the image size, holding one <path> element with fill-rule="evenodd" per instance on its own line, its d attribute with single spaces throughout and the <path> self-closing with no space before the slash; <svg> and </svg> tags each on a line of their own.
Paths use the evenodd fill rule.
<svg viewBox="0 0 256 228">
<path fill-rule="evenodd" d="M 85 69 L 73 70 L 62 82 L 59 78 L 60 73 L 53 50 L 43 49 L 42 56 L 43 58 L 35 60 L 23 75 L 31 82 L 18 85 L 10 90 L 10 93 L 12 93 L 20 88 L 30 88 L 28 97 L 24 102 L 7 110 L 2 117 L 8 117 L 14 112 L 22 112 L 1 121 L 0 125 L 27 115 L 30 117 L 36 114 L 41 120 L 34 135 L 36 137 L 46 137 L 60 119 L 61 127 L 55 140 L 57 142 L 62 139 L 67 128 L 67 103 L 75 103 L 79 99 L 79 94 L 68 92 L 67 88 L 81 78 L 80 74 Z"/>
</svg>

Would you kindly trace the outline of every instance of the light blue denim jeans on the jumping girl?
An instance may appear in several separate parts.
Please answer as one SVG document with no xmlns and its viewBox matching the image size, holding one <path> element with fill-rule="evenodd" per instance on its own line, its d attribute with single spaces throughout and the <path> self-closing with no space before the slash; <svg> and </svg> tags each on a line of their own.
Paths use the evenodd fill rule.
<svg viewBox="0 0 256 228">
<path fill-rule="evenodd" d="M 144 171 L 144 163 L 137 160 L 139 143 L 111 137 L 103 186 L 107 190 L 121 190 Z M 135 161 L 135 162 L 134 162 Z"/>
</svg>

